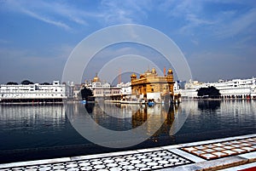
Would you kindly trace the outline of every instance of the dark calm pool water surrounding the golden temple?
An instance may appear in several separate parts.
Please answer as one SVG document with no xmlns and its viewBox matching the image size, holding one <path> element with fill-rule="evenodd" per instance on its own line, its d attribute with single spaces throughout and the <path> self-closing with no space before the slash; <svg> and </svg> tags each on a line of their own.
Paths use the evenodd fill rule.
<svg viewBox="0 0 256 171">
<path fill-rule="evenodd" d="M 137 128 L 153 117 L 154 122 L 145 124 L 145 134 L 153 136 L 125 149 L 95 145 L 72 125 L 73 120 L 84 115 L 84 110 L 97 124 L 116 131 Z M 154 133 L 160 123 L 162 126 Z M 255 133 L 255 100 L 183 100 L 179 105 L 154 107 L 79 103 L 0 105 L 0 162 L 124 151 Z M 106 143 L 114 143 L 114 139 Z"/>
</svg>

